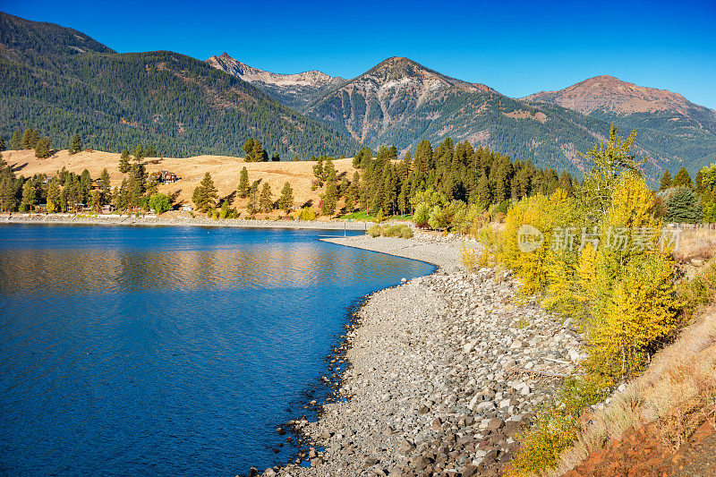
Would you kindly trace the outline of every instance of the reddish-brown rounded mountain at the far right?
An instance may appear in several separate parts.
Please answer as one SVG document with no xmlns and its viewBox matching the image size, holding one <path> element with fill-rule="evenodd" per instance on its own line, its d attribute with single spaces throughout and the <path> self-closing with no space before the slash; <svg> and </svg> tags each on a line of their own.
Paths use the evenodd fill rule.
<svg viewBox="0 0 716 477">
<path fill-rule="evenodd" d="M 624 130 L 635 129 L 639 145 L 668 161 L 672 172 L 681 166 L 693 172 L 716 160 L 716 111 L 666 89 L 605 75 L 523 99 L 533 106 L 558 105 Z"/>
</svg>

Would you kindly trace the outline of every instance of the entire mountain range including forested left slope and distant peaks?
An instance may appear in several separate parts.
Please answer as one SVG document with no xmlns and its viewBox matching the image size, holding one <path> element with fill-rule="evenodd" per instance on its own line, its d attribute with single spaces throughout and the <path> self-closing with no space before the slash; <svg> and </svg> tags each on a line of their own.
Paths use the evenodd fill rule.
<svg viewBox="0 0 716 477">
<path fill-rule="evenodd" d="M 536 166 L 584 170 L 577 151 L 609 124 L 635 129 L 644 176 L 694 173 L 716 160 L 716 112 L 678 93 L 598 76 L 508 98 L 403 57 L 353 79 L 268 72 L 224 53 L 206 62 L 173 52 L 117 54 L 80 31 L 0 13 L 0 134 L 35 127 L 90 147 L 137 142 L 160 153 L 242 155 L 249 136 L 284 158 L 351 155 L 366 145 L 414 150 L 447 137 Z M 64 147 L 64 144 L 60 144 Z"/>
</svg>

